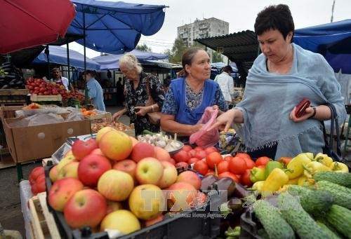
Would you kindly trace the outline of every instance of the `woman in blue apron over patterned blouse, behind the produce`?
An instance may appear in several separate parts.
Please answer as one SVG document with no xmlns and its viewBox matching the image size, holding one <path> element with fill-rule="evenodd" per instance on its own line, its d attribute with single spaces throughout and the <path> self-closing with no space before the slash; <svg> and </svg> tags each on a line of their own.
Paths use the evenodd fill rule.
<svg viewBox="0 0 351 239">
<path fill-rule="evenodd" d="M 199 131 L 197 125 L 206 107 L 227 111 L 225 99 L 218 83 L 210 78 L 210 57 L 202 48 L 190 48 L 182 57 L 183 71 L 180 78 L 171 81 L 162 108 L 162 130 L 186 141 Z"/>
</svg>

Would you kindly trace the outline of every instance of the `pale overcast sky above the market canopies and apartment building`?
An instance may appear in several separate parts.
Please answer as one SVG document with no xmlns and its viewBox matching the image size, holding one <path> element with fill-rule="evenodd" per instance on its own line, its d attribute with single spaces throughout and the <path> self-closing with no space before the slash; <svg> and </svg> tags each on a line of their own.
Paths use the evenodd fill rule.
<svg viewBox="0 0 351 239">
<path fill-rule="evenodd" d="M 105 0 L 106 1 L 106 0 Z M 109 1 L 109 0 L 107 0 Z M 112 1 L 112 0 L 110 0 Z M 126 0 L 135 4 L 165 5 L 164 25 L 152 36 L 142 36 L 139 44 L 146 43 L 154 53 L 164 53 L 171 49 L 177 38 L 177 27 L 202 20 L 218 18 L 229 22 L 229 33 L 253 30 L 257 14 L 265 6 L 287 4 L 290 8 L 295 29 L 331 22 L 334 0 Z M 335 0 L 333 22 L 351 19 L 351 0 Z M 70 43 L 69 48 L 83 53 L 83 46 Z M 100 53 L 87 49 L 87 57 Z"/>
</svg>

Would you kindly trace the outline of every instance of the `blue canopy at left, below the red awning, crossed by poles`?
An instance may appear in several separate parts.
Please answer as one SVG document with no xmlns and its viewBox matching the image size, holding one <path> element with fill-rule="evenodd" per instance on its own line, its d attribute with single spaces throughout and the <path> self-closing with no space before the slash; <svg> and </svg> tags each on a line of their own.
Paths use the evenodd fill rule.
<svg viewBox="0 0 351 239">
<path fill-rule="evenodd" d="M 48 60 L 51 63 L 67 65 L 67 48 L 62 46 L 48 46 Z M 45 50 L 43 50 L 33 61 L 33 63 L 44 64 L 48 62 Z M 84 55 L 75 51 L 69 50 L 69 65 L 77 69 L 84 70 Z M 95 71 L 100 70 L 100 64 L 86 57 L 86 68 Z"/>
</svg>

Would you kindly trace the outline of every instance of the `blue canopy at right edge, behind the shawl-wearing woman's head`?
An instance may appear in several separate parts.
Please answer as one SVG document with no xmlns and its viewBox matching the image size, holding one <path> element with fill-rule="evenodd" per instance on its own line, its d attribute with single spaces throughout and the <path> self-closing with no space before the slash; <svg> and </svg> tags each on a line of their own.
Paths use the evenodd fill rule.
<svg viewBox="0 0 351 239">
<path fill-rule="evenodd" d="M 351 74 L 351 19 L 296 29 L 293 42 L 324 55 L 334 71 Z"/>
</svg>

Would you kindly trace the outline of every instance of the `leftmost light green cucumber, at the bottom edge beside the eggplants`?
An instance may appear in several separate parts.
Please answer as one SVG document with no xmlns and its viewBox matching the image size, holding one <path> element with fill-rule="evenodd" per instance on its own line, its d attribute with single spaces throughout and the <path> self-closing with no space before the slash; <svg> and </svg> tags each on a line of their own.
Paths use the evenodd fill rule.
<svg viewBox="0 0 351 239">
<path fill-rule="evenodd" d="M 269 238 L 295 238 L 293 228 L 282 218 L 278 208 L 266 200 L 253 203 L 253 212 L 265 228 Z"/>
</svg>

